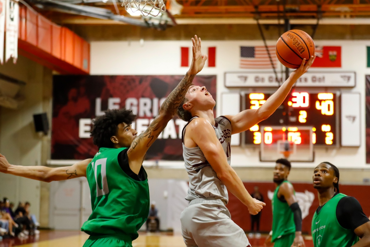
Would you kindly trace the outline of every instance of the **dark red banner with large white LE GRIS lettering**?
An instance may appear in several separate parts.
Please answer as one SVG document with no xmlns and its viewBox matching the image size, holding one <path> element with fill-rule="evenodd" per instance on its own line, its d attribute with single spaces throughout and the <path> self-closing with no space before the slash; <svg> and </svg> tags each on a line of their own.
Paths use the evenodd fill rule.
<svg viewBox="0 0 370 247">
<path fill-rule="evenodd" d="M 141 133 L 157 116 L 159 107 L 183 76 L 54 76 L 52 159 L 91 158 L 98 151 L 90 138 L 92 119 L 107 109 L 131 109 L 133 127 Z M 216 76 L 196 76 L 216 99 Z M 181 131 L 185 122 L 175 117 L 149 148 L 147 159 L 183 160 Z"/>
</svg>

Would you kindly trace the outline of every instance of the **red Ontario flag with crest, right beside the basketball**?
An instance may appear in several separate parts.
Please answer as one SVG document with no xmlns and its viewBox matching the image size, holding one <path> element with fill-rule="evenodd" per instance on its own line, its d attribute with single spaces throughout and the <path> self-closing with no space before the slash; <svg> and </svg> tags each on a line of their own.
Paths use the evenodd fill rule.
<svg viewBox="0 0 370 247">
<path fill-rule="evenodd" d="M 315 46 L 315 54 L 311 67 L 342 67 L 341 46 Z"/>
</svg>

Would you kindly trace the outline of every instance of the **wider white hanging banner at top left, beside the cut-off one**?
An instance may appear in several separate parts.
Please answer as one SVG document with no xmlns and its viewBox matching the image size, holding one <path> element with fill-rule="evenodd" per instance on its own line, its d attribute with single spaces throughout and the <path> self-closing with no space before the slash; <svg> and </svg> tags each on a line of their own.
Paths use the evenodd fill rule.
<svg viewBox="0 0 370 247">
<path fill-rule="evenodd" d="M 13 57 L 13 63 L 18 58 L 18 1 L 6 0 L 6 34 L 5 34 L 5 61 Z"/>
</svg>

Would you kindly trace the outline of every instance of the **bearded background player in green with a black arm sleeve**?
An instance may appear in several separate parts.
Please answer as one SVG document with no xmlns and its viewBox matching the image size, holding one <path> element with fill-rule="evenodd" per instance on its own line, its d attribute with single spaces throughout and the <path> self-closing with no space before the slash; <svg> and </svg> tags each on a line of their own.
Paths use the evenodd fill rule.
<svg viewBox="0 0 370 247">
<path fill-rule="evenodd" d="M 274 178 L 276 189 L 272 198 L 272 235 L 265 245 L 274 247 L 305 246 L 302 237 L 302 211 L 293 185 L 287 180 L 292 165 L 286 159 L 276 160 Z"/>
</svg>

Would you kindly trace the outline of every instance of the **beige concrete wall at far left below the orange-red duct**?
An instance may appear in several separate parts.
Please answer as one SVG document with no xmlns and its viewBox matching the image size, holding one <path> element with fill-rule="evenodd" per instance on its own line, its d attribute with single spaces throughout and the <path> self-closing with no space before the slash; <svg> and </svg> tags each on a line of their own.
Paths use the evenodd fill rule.
<svg viewBox="0 0 370 247">
<path fill-rule="evenodd" d="M 44 67 L 20 56 L 0 66 L 0 73 L 26 82 L 24 105 L 19 110 L 0 107 L 0 153 L 11 164 L 40 166 L 42 137 L 35 133 L 33 114 L 43 112 Z M 51 75 L 51 73 L 50 73 Z M 50 117 L 50 115 L 48 116 Z M 0 173 L 0 198 L 8 197 L 17 207 L 29 201 L 37 219 L 40 213 L 40 181 Z"/>
</svg>

